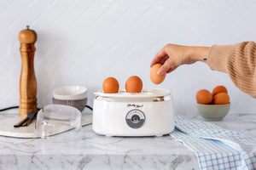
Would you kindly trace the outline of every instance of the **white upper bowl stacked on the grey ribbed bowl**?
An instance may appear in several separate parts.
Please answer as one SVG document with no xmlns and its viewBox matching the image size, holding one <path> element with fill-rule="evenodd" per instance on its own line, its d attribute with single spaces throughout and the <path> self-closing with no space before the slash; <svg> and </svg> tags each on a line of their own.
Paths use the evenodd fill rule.
<svg viewBox="0 0 256 170">
<path fill-rule="evenodd" d="M 56 88 L 53 91 L 54 99 L 61 100 L 79 100 L 87 97 L 87 88 L 82 86 L 65 86 Z"/>
</svg>

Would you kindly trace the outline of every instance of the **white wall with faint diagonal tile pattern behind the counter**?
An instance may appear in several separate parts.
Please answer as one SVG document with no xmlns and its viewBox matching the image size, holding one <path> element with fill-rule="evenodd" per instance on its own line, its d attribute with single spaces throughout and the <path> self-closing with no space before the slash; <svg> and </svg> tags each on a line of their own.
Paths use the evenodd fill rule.
<svg viewBox="0 0 256 170">
<path fill-rule="evenodd" d="M 116 77 L 125 87 L 137 75 L 144 87 L 172 92 L 178 113 L 196 113 L 201 88 L 228 88 L 231 113 L 256 113 L 256 99 L 243 94 L 228 75 L 198 63 L 150 82 L 149 64 L 166 43 L 211 46 L 256 41 L 253 0 L 1 0 L 0 108 L 19 105 L 19 31 L 38 33 L 35 70 L 38 106 L 51 103 L 52 89 L 84 85 L 93 93 L 103 80 Z"/>
</svg>

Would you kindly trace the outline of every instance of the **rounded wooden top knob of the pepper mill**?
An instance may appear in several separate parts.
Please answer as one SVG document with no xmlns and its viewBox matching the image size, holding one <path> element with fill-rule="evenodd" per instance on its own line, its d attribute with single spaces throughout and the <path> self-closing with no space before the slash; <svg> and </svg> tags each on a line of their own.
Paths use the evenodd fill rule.
<svg viewBox="0 0 256 170">
<path fill-rule="evenodd" d="M 20 31 L 19 41 L 20 43 L 35 43 L 38 39 L 36 31 L 30 30 L 29 26 L 26 26 L 25 30 Z"/>
</svg>

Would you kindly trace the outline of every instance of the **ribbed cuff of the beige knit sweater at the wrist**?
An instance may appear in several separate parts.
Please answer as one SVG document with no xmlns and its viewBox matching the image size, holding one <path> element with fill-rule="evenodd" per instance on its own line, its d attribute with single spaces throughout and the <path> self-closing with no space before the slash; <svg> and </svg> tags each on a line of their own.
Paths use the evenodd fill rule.
<svg viewBox="0 0 256 170">
<path fill-rule="evenodd" d="M 227 55 L 231 53 L 232 45 L 213 45 L 208 53 L 207 65 L 212 71 L 223 71 L 227 70 Z"/>
</svg>

